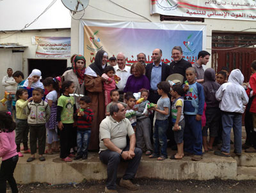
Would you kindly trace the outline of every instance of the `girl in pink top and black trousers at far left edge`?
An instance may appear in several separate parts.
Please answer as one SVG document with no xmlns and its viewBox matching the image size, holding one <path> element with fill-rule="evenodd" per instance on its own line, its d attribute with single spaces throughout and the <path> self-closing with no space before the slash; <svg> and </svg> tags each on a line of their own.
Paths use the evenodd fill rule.
<svg viewBox="0 0 256 193">
<path fill-rule="evenodd" d="M 0 157 L 2 164 L 0 169 L 0 192 L 6 192 L 6 181 L 12 192 L 19 192 L 13 177 L 13 172 L 19 160 L 15 145 L 15 122 L 10 112 L 0 111 Z"/>
</svg>

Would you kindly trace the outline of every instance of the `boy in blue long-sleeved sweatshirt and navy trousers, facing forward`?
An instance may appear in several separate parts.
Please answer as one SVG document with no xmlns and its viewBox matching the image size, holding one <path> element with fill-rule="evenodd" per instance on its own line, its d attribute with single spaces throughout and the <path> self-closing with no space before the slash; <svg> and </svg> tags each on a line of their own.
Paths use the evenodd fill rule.
<svg viewBox="0 0 256 193">
<path fill-rule="evenodd" d="M 184 86 L 184 151 L 193 155 L 191 160 L 202 159 L 202 122 L 201 117 L 204 110 L 204 88 L 195 81 L 195 68 L 186 69 L 186 78 L 189 85 Z"/>
</svg>

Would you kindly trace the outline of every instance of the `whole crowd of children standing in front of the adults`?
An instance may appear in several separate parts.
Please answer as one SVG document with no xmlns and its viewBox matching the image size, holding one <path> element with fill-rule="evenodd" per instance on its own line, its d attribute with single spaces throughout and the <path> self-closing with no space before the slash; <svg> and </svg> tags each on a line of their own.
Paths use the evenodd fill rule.
<svg viewBox="0 0 256 193">
<path fill-rule="evenodd" d="M 234 69 L 230 75 L 225 68 L 217 74 L 214 69 L 206 69 L 204 83 L 201 84 L 196 82 L 196 71 L 191 67 L 186 69 L 187 81 L 183 85 L 178 83 L 173 85 L 167 81 L 157 84 L 157 92 L 161 96 L 157 104 L 148 101 L 147 89 L 141 89 L 139 97 L 138 93 L 127 92 L 125 103 L 122 104 L 125 107 L 125 116 L 136 132 L 136 146 L 149 155 L 149 158 L 163 161 L 168 158 L 166 132 L 172 130 L 177 144 L 177 154 L 171 155 L 170 159 L 182 159 L 186 155 L 193 155 L 192 160 L 199 161 L 203 152 L 212 151 L 216 141 L 221 141 L 222 146 L 221 150 L 215 151 L 214 154 L 229 157 L 230 131 L 233 128 L 234 153 L 241 155 L 242 114 L 250 99 L 246 108 L 246 118 L 252 124 L 247 124 L 247 127 L 250 127 L 246 130 L 247 137 L 250 138 L 247 145 L 255 148 L 256 143 L 252 140 L 252 133 L 256 131 L 255 71 L 256 61 L 253 61 L 253 75 L 246 87 L 247 90 L 242 86 L 244 77 L 239 69 Z M 118 102 L 119 92 L 115 87 L 114 75 L 115 69 L 112 66 L 107 66 L 102 75 L 106 116 L 109 116 L 111 104 L 121 103 Z M 48 77 L 40 82 L 41 72 L 38 69 L 33 69 L 26 80 L 20 71 L 16 71 L 13 78 L 18 84 L 13 101 L 16 126 L 13 126 L 12 121 L 8 122 L 11 118 L 10 114 L 0 113 L 0 156 L 3 157 L 3 168 L 9 167 L 8 172 L 13 173 L 19 157 L 23 157 L 20 152 L 21 143 L 24 153 L 31 154 L 27 162 L 35 160 L 37 148 L 40 161 L 45 161 L 44 154 L 54 152 L 60 152 L 61 160 L 65 162 L 71 162 L 73 157 L 76 160 L 87 159 L 90 127 L 93 121 L 91 98 L 81 97 L 80 108 L 77 109 L 74 97 L 70 96 L 74 93 L 74 82 L 61 83 L 60 77 Z M 152 124 L 149 118 L 152 113 L 155 113 L 153 134 L 151 134 Z M 204 113 L 206 122 L 202 124 Z M 74 123 L 77 128 L 77 155 L 70 153 Z M 13 132 L 14 128 L 16 134 Z M 207 141 L 208 129 L 209 141 Z M 47 150 L 45 150 L 46 132 Z M 60 136 L 60 148 L 58 136 Z M 153 136 L 153 145 L 150 136 Z M 6 145 L 10 147 L 7 152 L 4 148 Z M 2 166 L 0 175 L 3 175 Z M 13 178 L 12 174 L 9 177 Z M 10 181 L 13 184 L 12 189 L 15 190 L 14 178 Z"/>
</svg>

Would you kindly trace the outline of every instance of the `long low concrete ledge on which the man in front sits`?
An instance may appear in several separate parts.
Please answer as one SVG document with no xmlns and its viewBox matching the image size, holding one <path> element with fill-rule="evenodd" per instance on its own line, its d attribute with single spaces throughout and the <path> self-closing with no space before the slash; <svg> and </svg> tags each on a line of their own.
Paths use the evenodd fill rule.
<svg viewBox="0 0 256 193">
<path fill-rule="evenodd" d="M 168 153 L 170 155 L 170 152 Z M 80 183 L 83 180 L 105 180 L 107 178 L 106 165 L 99 161 L 99 154 L 89 153 L 86 161 L 63 162 L 58 154 L 45 155 L 46 161 L 26 162 L 29 155 L 21 157 L 15 169 L 17 183 Z M 118 176 L 124 175 L 125 166 L 122 163 L 118 169 Z M 222 180 L 237 178 L 237 163 L 232 157 L 219 157 L 208 153 L 204 159 L 195 162 L 191 157 L 182 160 L 166 159 L 157 161 L 143 155 L 136 178 L 159 178 L 164 180 Z"/>
</svg>

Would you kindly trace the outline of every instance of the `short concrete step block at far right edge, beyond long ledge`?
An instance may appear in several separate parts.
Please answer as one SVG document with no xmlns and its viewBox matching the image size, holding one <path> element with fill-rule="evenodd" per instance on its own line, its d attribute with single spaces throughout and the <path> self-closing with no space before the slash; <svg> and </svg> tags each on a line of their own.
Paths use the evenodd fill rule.
<svg viewBox="0 0 256 193">
<path fill-rule="evenodd" d="M 237 166 L 256 167 L 256 154 L 242 153 L 240 157 L 234 157 L 237 161 Z"/>
</svg>

